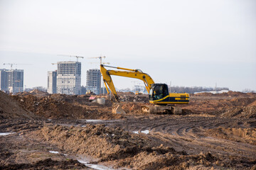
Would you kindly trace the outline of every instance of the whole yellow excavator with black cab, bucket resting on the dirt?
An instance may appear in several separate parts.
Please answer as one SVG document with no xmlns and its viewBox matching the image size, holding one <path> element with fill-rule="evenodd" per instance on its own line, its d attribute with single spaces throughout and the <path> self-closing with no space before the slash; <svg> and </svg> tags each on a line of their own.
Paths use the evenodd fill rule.
<svg viewBox="0 0 256 170">
<path fill-rule="evenodd" d="M 105 67 L 110 67 L 114 69 L 122 69 L 125 71 L 106 69 Z M 117 91 L 114 87 L 111 75 L 119 77 L 129 77 L 133 79 L 140 79 L 144 82 L 146 86 L 146 91 L 149 93 L 149 103 L 153 103 L 154 106 L 144 105 L 142 106 L 142 111 L 144 113 L 174 113 L 181 114 L 181 108 L 176 108 L 176 104 L 188 104 L 189 94 L 169 94 L 167 84 L 155 84 L 154 80 L 142 72 L 140 69 L 126 69 L 122 67 L 112 67 L 101 64 L 100 72 L 103 77 L 104 84 L 107 89 L 107 94 L 110 95 L 110 91 L 114 96 L 114 100 L 117 104 L 112 108 L 112 113 L 125 113 L 122 110 L 122 106 L 119 103 L 119 97 L 117 96 Z M 108 89 L 110 88 L 110 91 Z"/>
</svg>

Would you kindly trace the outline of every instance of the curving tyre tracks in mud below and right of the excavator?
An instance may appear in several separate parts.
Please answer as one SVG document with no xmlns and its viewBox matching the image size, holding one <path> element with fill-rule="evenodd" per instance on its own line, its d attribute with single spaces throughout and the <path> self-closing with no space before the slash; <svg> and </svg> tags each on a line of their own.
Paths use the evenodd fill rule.
<svg viewBox="0 0 256 170">
<path fill-rule="evenodd" d="M 246 123 L 247 120 L 245 120 Z M 250 120 L 251 121 L 251 120 Z M 159 115 L 155 118 L 129 118 L 119 125 L 129 132 L 134 130 L 149 130 L 149 137 L 174 147 L 177 151 L 186 151 L 188 154 L 212 152 L 224 156 L 247 157 L 256 159 L 256 146 L 246 142 L 236 142 L 206 133 L 207 130 L 223 128 L 244 128 L 242 120 L 180 115 Z M 125 126 L 127 125 L 127 126 Z"/>
</svg>

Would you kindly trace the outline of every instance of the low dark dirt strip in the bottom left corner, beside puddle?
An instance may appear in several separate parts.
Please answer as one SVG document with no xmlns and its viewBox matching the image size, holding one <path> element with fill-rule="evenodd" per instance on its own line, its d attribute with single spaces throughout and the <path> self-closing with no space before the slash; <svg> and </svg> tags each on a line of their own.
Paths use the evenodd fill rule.
<svg viewBox="0 0 256 170">
<path fill-rule="evenodd" d="M 0 165 L 0 169 L 85 169 L 86 166 L 77 160 L 54 161 L 50 158 L 33 164 L 8 164 Z"/>
</svg>

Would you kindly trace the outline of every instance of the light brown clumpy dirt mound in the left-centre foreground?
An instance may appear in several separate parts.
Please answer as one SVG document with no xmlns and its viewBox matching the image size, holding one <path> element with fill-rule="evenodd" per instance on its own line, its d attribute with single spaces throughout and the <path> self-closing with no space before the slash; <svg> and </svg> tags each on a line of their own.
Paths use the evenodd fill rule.
<svg viewBox="0 0 256 170">
<path fill-rule="evenodd" d="M 45 126 L 37 132 L 37 135 L 43 135 L 46 141 L 53 142 L 70 152 L 89 154 L 104 160 L 120 159 L 136 154 L 146 143 L 143 137 L 104 125 L 87 125 L 85 128 Z"/>
</svg>

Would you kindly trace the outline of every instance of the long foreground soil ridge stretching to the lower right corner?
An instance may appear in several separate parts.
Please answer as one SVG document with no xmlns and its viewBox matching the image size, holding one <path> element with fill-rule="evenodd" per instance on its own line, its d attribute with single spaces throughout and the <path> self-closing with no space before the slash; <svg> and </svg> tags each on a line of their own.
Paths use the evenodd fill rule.
<svg viewBox="0 0 256 170">
<path fill-rule="evenodd" d="M 253 166 L 253 160 L 225 159 L 210 152 L 187 154 L 173 147 L 159 145 L 147 135 L 125 132 L 105 125 L 87 125 L 85 128 L 44 126 L 32 133 L 37 139 L 57 145 L 73 154 L 85 154 L 108 162 L 115 168 L 130 169 L 214 169 Z"/>
</svg>

